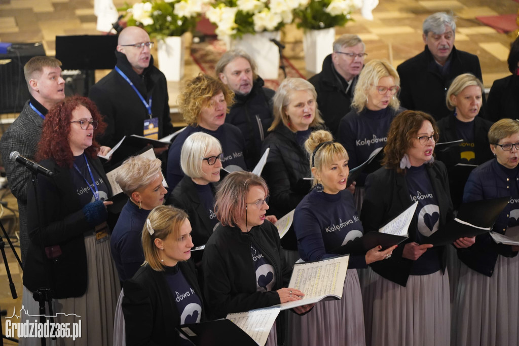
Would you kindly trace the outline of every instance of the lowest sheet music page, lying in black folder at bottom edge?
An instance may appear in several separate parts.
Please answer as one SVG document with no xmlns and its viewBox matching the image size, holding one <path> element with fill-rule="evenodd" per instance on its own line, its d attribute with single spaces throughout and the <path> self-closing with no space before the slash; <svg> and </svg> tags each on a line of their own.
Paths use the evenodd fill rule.
<svg viewBox="0 0 519 346">
<path fill-rule="evenodd" d="M 263 346 L 267 342 L 268 334 L 276 322 L 279 311 L 279 308 L 252 310 L 228 314 L 225 318 L 240 327 L 258 345 Z"/>
</svg>

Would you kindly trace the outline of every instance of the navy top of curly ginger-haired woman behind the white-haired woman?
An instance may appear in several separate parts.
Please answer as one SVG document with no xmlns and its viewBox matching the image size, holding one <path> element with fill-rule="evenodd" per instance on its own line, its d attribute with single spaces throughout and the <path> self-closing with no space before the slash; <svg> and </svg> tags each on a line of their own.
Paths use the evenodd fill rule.
<svg viewBox="0 0 519 346">
<path fill-rule="evenodd" d="M 205 132 L 220 141 L 224 154 L 222 158 L 222 165 L 224 168 L 227 168 L 228 166 L 237 166 L 240 168 L 238 170 L 247 169 L 243 157 L 245 153 L 245 141 L 239 128 L 228 123 L 218 127 L 216 131 L 211 131 L 200 126 L 187 126 L 178 136 L 176 136 L 173 144 L 171 144 L 171 147 L 169 148 L 166 181 L 169 185 L 170 192 L 173 191 L 176 184 L 178 184 L 184 177 L 184 172 L 182 171 L 182 168 L 180 168 L 180 152 L 186 138 L 195 132 Z M 237 169 L 231 168 L 230 170 L 233 171 Z"/>
</svg>

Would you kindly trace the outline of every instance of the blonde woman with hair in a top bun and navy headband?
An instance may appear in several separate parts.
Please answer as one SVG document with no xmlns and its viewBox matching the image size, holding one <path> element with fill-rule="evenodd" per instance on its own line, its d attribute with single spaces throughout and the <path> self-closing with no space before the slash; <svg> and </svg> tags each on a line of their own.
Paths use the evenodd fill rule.
<svg viewBox="0 0 519 346">
<path fill-rule="evenodd" d="M 305 142 L 310 156 L 313 189 L 303 198 L 294 213 L 294 230 L 299 255 L 304 261 L 336 256 L 332 250 L 362 236 L 362 224 L 346 190 L 348 153 L 334 143 L 332 134 L 312 132 Z M 343 298 L 316 304 L 315 311 L 304 316 L 290 316 L 291 342 L 294 345 L 364 345 L 362 295 L 355 268 L 391 257 L 392 246 L 368 250 L 365 255 L 350 256 Z"/>
</svg>

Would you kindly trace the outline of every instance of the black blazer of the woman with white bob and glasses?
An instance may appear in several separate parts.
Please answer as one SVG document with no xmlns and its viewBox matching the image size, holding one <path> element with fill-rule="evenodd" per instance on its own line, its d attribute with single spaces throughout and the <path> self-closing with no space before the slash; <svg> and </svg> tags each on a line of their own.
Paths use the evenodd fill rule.
<svg viewBox="0 0 519 346">
<path fill-rule="evenodd" d="M 212 184 L 211 189 L 214 191 Z M 188 176 L 184 176 L 171 193 L 169 203 L 187 212 L 193 230 L 191 233 L 193 244 L 195 246 L 206 244 L 211 234 L 213 234 L 213 226 L 207 215 L 206 208 L 204 208 L 198 198 L 195 182 Z"/>
</svg>

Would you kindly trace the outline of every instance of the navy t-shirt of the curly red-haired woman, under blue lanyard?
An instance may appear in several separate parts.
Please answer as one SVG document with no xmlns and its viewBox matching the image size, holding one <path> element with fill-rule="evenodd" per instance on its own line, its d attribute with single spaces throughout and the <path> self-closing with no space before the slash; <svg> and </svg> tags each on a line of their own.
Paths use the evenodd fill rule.
<svg viewBox="0 0 519 346">
<path fill-rule="evenodd" d="M 83 155 L 74 156 L 74 164 L 76 164 L 79 172 L 74 167 L 71 168 L 72 184 L 76 189 L 81 205 L 84 206 L 95 201 L 95 197 L 91 190 L 93 188 L 92 178 L 88 172 L 87 163 L 85 162 L 85 157 Z M 89 162 L 89 165 L 92 176 L 94 177 L 95 185 L 99 191 L 99 197 L 101 198 L 101 201 L 106 201 L 106 199 L 108 199 L 108 187 L 106 186 L 106 182 L 101 178 L 97 170 L 92 166 L 91 162 Z M 93 191 L 95 191 L 95 189 L 93 189 Z"/>
</svg>

